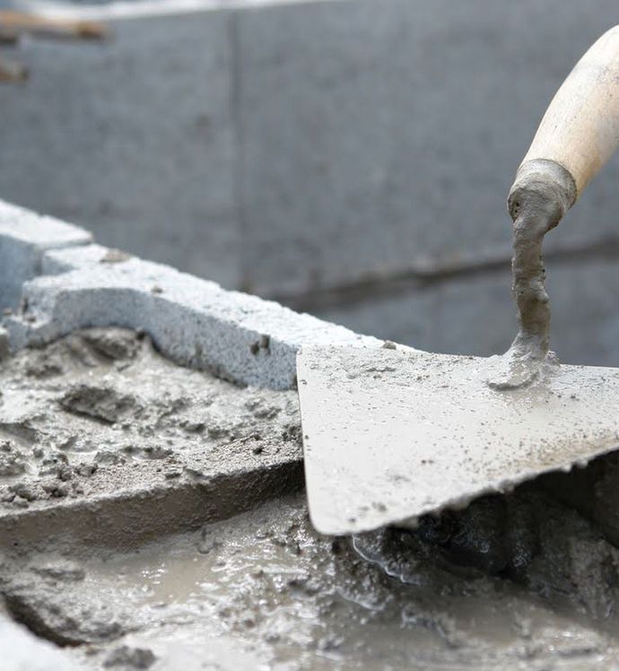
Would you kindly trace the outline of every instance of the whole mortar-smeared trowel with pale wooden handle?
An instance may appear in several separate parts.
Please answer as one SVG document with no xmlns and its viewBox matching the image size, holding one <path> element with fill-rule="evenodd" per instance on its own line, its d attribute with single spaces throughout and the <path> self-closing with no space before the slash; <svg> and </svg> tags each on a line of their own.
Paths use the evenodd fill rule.
<svg viewBox="0 0 619 671">
<path fill-rule="evenodd" d="M 297 357 L 309 514 L 347 535 L 464 507 L 619 449 L 619 369 L 549 351 L 542 241 L 619 144 L 619 27 L 554 96 L 516 180 L 519 332 L 489 358 L 401 345 L 303 347 Z"/>
</svg>

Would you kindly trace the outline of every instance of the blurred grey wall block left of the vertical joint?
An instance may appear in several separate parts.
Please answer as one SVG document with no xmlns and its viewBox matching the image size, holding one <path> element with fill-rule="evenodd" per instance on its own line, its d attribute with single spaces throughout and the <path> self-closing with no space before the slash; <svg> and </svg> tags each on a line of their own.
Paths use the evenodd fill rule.
<svg viewBox="0 0 619 671">
<path fill-rule="evenodd" d="M 0 90 L 0 196 L 235 288 L 229 15 L 110 30 L 100 43 L 27 39 L 15 52 L 31 76 Z"/>
</svg>

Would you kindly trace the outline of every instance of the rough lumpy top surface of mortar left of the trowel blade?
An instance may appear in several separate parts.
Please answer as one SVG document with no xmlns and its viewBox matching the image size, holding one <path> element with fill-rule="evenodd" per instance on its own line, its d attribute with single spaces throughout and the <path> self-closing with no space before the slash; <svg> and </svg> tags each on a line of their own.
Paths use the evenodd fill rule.
<svg viewBox="0 0 619 671">
<path fill-rule="evenodd" d="M 0 389 L 0 514 L 208 478 L 234 453 L 301 458 L 293 391 L 181 368 L 134 331 L 23 350 L 0 363 Z"/>
</svg>

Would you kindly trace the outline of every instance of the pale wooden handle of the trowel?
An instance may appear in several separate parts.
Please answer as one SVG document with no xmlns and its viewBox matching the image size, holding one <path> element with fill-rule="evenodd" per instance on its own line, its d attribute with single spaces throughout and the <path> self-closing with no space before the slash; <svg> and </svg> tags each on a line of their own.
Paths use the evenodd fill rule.
<svg viewBox="0 0 619 671">
<path fill-rule="evenodd" d="M 565 213 L 617 144 L 619 26 L 597 39 L 556 92 L 519 167 L 514 187 L 532 171 L 539 179 L 545 171 L 554 172 L 556 178 L 565 170 L 567 174 L 560 177 L 567 181 L 562 187 L 569 191 Z"/>
</svg>

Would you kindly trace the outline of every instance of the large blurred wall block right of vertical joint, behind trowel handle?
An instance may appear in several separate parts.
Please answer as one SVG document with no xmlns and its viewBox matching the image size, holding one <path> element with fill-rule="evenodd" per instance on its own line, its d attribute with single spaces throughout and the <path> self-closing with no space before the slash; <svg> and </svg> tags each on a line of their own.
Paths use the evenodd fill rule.
<svg viewBox="0 0 619 671">
<path fill-rule="evenodd" d="M 279 297 L 509 259 L 519 162 L 619 14 L 612 0 L 358 0 L 236 18 L 245 286 Z M 549 245 L 616 236 L 617 179 L 619 158 Z"/>
</svg>

